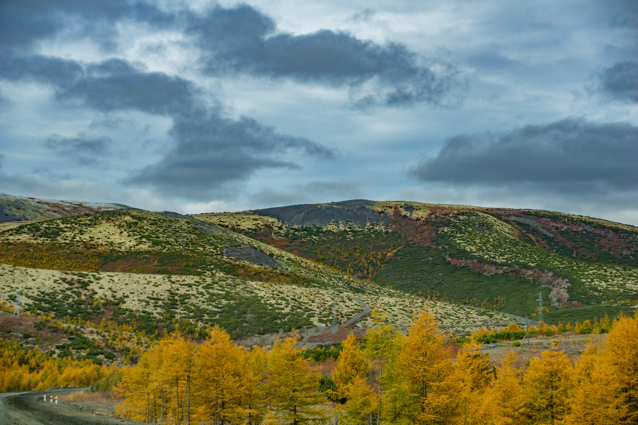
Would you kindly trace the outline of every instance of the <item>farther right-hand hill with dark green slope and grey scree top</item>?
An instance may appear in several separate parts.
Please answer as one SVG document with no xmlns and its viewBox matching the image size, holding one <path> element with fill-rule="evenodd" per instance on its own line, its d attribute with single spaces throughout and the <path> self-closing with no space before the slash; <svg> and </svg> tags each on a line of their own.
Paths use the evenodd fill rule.
<svg viewBox="0 0 638 425">
<path fill-rule="evenodd" d="M 343 201 L 198 219 L 362 280 L 546 322 L 632 313 L 638 227 L 538 210 Z"/>
</svg>

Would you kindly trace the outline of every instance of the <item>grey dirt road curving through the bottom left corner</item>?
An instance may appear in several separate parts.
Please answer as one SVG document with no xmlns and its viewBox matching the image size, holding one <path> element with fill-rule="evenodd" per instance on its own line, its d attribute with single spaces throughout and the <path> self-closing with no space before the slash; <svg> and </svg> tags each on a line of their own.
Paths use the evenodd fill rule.
<svg viewBox="0 0 638 425">
<path fill-rule="evenodd" d="M 0 425 L 115 425 L 137 424 L 114 416 L 94 414 L 77 403 L 44 401 L 44 395 L 59 396 L 85 388 L 12 391 L 0 393 Z"/>
</svg>

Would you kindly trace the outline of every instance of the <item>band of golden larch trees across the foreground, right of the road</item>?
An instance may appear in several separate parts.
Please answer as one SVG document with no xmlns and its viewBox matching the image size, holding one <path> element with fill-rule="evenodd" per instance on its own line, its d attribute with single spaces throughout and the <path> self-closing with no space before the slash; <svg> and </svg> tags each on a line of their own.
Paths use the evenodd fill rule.
<svg viewBox="0 0 638 425">
<path fill-rule="evenodd" d="M 137 366 L 124 368 L 119 412 L 138 421 L 217 425 L 325 424 L 334 413 L 346 425 L 608 425 L 638 419 L 638 316 L 621 317 L 606 342 L 595 336 L 575 365 L 554 347 L 531 359 L 523 374 L 514 351 L 497 368 L 475 338 L 451 363 L 444 348 L 448 336 L 427 310 L 415 315 L 407 337 L 387 323 L 385 312 L 375 308 L 372 316 L 365 347 L 348 336 L 334 370 L 345 404 L 330 405 L 318 393 L 316 368 L 296 348 L 296 334 L 266 352 L 238 347 L 216 327 L 201 345 L 179 333 L 168 336 Z"/>
</svg>

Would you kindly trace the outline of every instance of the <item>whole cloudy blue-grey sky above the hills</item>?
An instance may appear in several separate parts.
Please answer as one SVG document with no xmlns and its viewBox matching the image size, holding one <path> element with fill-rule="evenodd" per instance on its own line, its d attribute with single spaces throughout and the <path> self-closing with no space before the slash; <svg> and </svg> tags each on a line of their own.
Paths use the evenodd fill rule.
<svg viewBox="0 0 638 425">
<path fill-rule="evenodd" d="M 638 2 L 0 3 L 0 192 L 638 225 Z"/>
</svg>

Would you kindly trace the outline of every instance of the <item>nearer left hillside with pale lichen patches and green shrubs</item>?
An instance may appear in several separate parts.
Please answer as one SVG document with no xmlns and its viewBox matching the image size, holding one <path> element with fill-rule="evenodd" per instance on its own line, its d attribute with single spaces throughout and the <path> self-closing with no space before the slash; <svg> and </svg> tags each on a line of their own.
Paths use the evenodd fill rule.
<svg viewBox="0 0 638 425">
<path fill-rule="evenodd" d="M 105 319 L 120 326 L 118 332 L 130 333 L 115 337 L 89 326 L 97 338 L 91 356 L 100 356 L 100 350 L 133 356 L 138 344 L 131 340 L 175 329 L 201 337 L 214 323 L 235 340 L 321 328 L 332 325 L 333 308 L 338 324 L 358 315 L 347 326 L 360 329 L 371 324 L 362 313 L 373 306 L 387 309 L 389 321 L 399 327 L 424 306 L 461 334 L 477 326 L 523 323 L 362 280 L 171 212 L 121 209 L 22 224 L 0 233 L 0 262 L 0 299 L 13 303 L 20 291 L 24 310 L 33 316 L 68 317 L 67 327 L 74 320 L 100 324 Z M 3 308 L 10 310 L 10 304 Z M 73 338 L 81 333 L 78 326 L 85 325 L 70 330 Z M 58 343 L 56 350 L 66 353 L 69 344 Z"/>
</svg>

